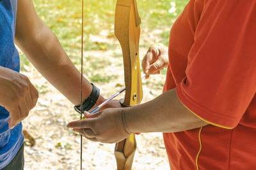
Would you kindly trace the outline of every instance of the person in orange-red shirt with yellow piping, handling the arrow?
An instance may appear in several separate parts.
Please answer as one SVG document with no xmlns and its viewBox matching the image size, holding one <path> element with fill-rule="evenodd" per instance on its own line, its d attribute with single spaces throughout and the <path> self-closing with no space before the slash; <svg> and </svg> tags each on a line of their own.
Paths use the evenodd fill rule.
<svg viewBox="0 0 256 170">
<path fill-rule="evenodd" d="M 169 62 L 159 46 L 143 59 L 148 75 L 168 63 L 164 93 L 68 127 L 104 143 L 163 132 L 171 169 L 255 169 L 255 37 L 256 1 L 191 0 L 170 32 Z"/>
</svg>

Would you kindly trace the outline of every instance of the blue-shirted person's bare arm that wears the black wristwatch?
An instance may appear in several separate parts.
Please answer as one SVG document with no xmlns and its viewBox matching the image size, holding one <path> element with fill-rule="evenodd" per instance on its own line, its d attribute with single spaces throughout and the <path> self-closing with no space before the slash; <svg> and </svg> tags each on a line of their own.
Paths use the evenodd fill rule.
<svg viewBox="0 0 256 170">
<path fill-rule="evenodd" d="M 54 33 L 36 15 L 31 0 L 19 0 L 15 43 L 29 61 L 56 89 L 73 104 L 81 103 L 81 74 L 68 58 Z M 83 101 L 92 92 L 92 85 L 83 78 Z M 104 101 L 99 97 L 97 104 Z M 115 102 L 109 105 L 118 106 Z"/>
</svg>

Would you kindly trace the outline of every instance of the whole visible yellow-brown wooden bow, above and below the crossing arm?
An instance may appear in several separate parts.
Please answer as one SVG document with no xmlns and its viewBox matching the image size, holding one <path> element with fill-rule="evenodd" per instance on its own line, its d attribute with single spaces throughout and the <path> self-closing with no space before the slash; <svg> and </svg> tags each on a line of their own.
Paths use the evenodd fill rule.
<svg viewBox="0 0 256 170">
<path fill-rule="evenodd" d="M 139 57 L 140 23 L 136 0 L 117 0 L 115 36 L 122 46 L 124 58 L 124 106 L 139 104 L 143 97 Z M 131 169 L 135 150 L 134 134 L 116 143 L 115 157 L 118 170 Z"/>
</svg>

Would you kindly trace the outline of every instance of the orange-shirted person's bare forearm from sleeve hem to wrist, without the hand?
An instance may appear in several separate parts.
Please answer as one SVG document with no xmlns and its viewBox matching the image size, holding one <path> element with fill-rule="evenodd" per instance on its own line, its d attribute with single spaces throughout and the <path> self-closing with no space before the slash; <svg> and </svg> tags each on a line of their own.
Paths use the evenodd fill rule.
<svg viewBox="0 0 256 170">
<path fill-rule="evenodd" d="M 175 89 L 147 103 L 125 108 L 122 117 L 129 133 L 180 132 L 207 125 L 180 103 Z"/>
</svg>

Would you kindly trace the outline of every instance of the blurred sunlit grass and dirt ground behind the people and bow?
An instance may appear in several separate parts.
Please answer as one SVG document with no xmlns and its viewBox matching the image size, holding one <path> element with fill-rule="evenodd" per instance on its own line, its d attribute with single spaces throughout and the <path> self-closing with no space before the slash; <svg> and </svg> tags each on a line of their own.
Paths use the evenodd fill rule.
<svg viewBox="0 0 256 170">
<path fill-rule="evenodd" d="M 36 12 L 60 39 L 81 71 L 81 0 L 33 0 Z M 188 0 L 138 0 L 141 17 L 140 59 L 150 45 L 168 46 L 169 32 Z M 124 87 L 121 47 L 114 36 L 116 0 L 84 0 L 84 76 L 108 98 Z M 67 129 L 79 119 L 73 105 L 52 87 L 20 52 L 20 72 L 40 93 L 36 107 L 23 121 L 25 169 L 80 169 L 80 137 Z M 142 71 L 141 71 L 142 73 Z M 145 103 L 161 94 L 166 69 L 143 81 Z M 122 96 L 120 96 L 122 97 Z M 161 133 L 136 136 L 132 169 L 170 169 Z M 83 139 L 83 169 L 116 169 L 115 145 Z"/>
</svg>

